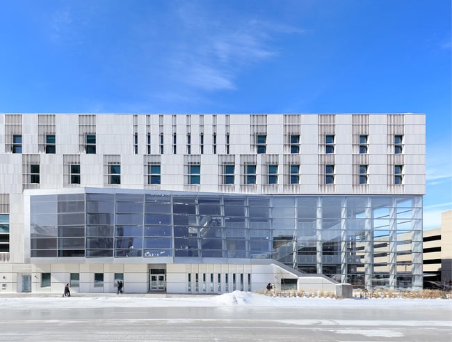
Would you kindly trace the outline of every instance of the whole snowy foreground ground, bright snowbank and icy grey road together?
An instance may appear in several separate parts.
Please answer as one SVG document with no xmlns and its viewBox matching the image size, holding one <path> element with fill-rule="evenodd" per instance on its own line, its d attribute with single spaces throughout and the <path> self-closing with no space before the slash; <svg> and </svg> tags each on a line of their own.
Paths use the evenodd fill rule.
<svg viewBox="0 0 452 342">
<path fill-rule="evenodd" d="M 452 300 L 0 295 L 0 341 L 452 341 Z"/>
</svg>

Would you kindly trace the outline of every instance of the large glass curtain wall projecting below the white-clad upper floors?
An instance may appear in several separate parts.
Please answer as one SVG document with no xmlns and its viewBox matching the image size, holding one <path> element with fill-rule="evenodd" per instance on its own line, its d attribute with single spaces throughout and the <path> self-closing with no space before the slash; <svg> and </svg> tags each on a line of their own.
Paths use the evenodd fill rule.
<svg viewBox="0 0 452 342">
<path fill-rule="evenodd" d="M 366 288 L 422 286 L 419 196 L 31 196 L 31 256 L 273 258 Z"/>
</svg>

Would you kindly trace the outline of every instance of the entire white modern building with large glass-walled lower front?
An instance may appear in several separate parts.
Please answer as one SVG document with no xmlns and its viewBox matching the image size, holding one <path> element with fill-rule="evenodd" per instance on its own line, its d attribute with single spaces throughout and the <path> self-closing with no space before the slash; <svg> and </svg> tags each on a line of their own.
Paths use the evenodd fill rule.
<svg viewBox="0 0 452 342">
<path fill-rule="evenodd" d="M 422 288 L 422 114 L 1 114 L 0 153 L 1 292 Z"/>
</svg>

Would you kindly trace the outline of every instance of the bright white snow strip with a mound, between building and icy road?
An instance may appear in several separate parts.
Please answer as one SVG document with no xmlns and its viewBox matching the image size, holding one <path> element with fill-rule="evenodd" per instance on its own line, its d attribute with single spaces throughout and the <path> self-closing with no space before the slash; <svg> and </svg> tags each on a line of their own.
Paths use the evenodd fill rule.
<svg viewBox="0 0 452 342">
<path fill-rule="evenodd" d="M 20 297 L 3 297 L 0 295 L 2 308 L 106 308 L 106 307 L 168 307 L 168 306 L 280 306 L 280 307 L 390 307 L 422 308 L 438 307 L 452 309 L 452 300 L 442 299 L 344 299 L 312 297 L 270 297 L 257 293 L 234 291 L 223 295 L 115 295 L 115 294 L 79 294 L 62 298 L 60 295 L 21 295 Z"/>
</svg>

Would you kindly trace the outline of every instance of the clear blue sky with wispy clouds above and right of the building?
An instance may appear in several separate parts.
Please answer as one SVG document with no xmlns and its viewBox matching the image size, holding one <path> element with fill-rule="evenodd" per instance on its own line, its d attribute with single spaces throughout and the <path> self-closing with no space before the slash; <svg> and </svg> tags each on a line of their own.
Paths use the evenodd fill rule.
<svg viewBox="0 0 452 342">
<path fill-rule="evenodd" d="M 451 1 L 2 1 L 2 113 L 425 113 L 452 209 Z"/>
</svg>

